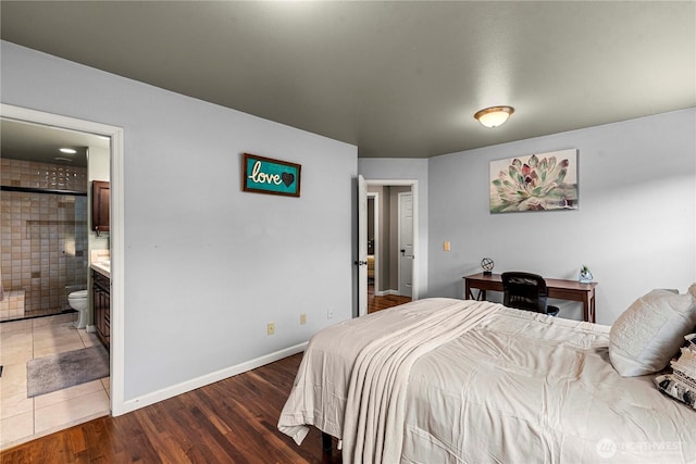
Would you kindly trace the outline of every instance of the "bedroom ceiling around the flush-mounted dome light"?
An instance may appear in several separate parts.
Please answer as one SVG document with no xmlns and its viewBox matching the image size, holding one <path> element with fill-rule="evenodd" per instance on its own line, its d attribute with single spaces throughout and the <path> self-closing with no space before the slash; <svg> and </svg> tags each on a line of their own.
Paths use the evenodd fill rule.
<svg viewBox="0 0 696 464">
<path fill-rule="evenodd" d="M 696 106 L 696 2 L 0 2 L 3 40 L 427 158 Z M 515 108 L 496 129 L 473 114 Z"/>
</svg>

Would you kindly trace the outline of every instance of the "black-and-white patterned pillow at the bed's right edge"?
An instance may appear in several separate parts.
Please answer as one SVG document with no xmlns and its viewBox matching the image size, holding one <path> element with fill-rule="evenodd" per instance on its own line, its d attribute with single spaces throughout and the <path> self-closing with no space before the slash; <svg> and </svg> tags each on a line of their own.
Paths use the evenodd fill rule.
<svg viewBox="0 0 696 464">
<path fill-rule="evenodd" d="M 658 375 L 655 385 L 664 394 L 696 410 L 696 334 L 685 338 L 688 342 L 682 348 L 682 354 L 671 362 L 672 374 Z"/>
</svg>

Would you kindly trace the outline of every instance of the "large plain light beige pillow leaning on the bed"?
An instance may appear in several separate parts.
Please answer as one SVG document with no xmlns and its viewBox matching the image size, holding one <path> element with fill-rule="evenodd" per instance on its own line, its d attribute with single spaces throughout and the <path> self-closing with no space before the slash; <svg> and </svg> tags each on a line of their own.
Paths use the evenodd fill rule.
<svg viewBox="0 0 696 464">
<path fill-rule="evenodd" d="M 652 290 L 619 316 L 609 331 L 609 358 L 623 377 L 662 371 L 696 326 L 696 285 L 689 293 Z"/>
</svg>

